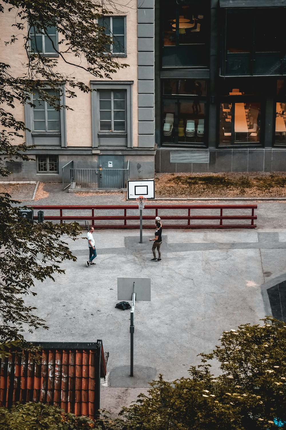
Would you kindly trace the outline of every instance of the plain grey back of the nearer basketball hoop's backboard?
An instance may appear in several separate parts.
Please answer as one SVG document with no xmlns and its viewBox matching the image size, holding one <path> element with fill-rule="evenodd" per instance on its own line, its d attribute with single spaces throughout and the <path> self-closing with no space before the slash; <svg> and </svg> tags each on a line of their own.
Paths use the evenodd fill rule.
<svg viewBox="0 0 286 430">
<path fill-rule="evenodd" d="M 117 278 L 117 300 L 132 300 L 136 293 L 136 301 L 151 301 L 151 278 Z"/>
</svg>

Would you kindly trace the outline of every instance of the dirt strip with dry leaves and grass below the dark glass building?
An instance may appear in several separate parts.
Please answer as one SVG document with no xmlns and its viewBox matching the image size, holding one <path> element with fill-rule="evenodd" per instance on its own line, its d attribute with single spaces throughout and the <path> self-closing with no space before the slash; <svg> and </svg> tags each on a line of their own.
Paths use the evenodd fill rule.
<svg viewBox="0 0 286 430">
<path fill-rule="evenodd" d="M 157 173 L 156 197 L 286 197 L 286 172 Z"/>
</svg>

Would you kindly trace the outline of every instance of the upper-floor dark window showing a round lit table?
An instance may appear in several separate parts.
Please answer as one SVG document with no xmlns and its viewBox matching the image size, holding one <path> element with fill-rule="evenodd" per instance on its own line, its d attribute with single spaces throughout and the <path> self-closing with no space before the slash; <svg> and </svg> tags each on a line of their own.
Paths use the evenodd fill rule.
<svg viewBox="0 0 286 430">
<path fill-rule="evenodd" d="M 160 9 L 162 67 L 207 67 L 210 2 L 161 0 Z"/>
</svg>

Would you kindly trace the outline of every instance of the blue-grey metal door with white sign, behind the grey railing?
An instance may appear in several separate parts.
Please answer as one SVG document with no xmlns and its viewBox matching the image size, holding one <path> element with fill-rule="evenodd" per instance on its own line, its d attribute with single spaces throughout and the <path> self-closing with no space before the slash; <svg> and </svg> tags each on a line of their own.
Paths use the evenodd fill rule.
<svg viewBox="0 0 286 430">
<path fill-rule="evenodd" d="M 99 155 L 99 188 L 125 188 L 123 155 Z"/>
</svg>

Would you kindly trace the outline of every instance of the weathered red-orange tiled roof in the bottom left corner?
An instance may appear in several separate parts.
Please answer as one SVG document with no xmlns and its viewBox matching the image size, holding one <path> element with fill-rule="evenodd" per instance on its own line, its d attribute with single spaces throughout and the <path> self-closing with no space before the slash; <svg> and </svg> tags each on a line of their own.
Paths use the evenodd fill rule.
<svg viewBox="0 0 286 430">
<path fill-rule="evenodd" d="M 23 356 L 0 359 L 0 406 L 42 402 L 95 418 L 100 407 L 100 377 L 106 376 L 102 341 L 41 345 L 40 364 L 24 350 Z"/>
</svg>

